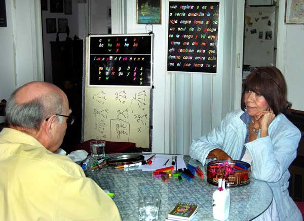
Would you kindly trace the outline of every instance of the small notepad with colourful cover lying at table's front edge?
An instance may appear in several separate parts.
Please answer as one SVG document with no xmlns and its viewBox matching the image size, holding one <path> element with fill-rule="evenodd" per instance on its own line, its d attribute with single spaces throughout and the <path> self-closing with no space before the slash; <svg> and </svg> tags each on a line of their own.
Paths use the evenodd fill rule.
<svg viewBox="0 0 304 221">
<path fill-rule="evenodd" d="M 197 204 L 177 203 L 174 209 L 168 214 L 168 218 L 177 218 L 181 220 L 190 220 L 198 209 Z"/>
</svg>

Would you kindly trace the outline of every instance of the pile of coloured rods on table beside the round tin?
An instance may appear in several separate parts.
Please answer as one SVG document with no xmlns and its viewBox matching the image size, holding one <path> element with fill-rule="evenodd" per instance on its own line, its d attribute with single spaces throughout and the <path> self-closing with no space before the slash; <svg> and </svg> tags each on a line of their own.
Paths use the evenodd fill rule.
<svg viewBox="0 0 304 221">
<path fill-rule="evenodd" d="M 201 179 L 204 178 L 204 173 L 199 166 L 195 167 L 187 163 L 186 167 L 187 168 L 175 170 L 175 173 L 172 173 L 174 171 L 173 166 L 164 167 L 155 170 L 155 172 L 153 172 L 153 175 L 156 178 L 162 178 L 164 182 L 169 182 L 171 176 L 178 178 L 179 182 L 182 182 L 182 178 L 186 179 L 189 182 L 192 182 L 193 179 L 195 178 L 195 173 L 197 173 L 197 175 Z"/>
</svg>

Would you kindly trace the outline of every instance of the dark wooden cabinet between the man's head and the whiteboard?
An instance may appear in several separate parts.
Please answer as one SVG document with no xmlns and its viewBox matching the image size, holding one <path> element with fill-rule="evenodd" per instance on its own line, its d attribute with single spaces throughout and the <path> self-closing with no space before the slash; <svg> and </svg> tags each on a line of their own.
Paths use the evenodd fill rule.
<svg viewBox="0 0 304 221">
<path fill-rule="evenodd" d="M 51 41 L 53 83 L 67 95 L 76 120 L 69 126 L 61 148 L 66 152 L 81 141 L 83 40 Z"/>
</svg>

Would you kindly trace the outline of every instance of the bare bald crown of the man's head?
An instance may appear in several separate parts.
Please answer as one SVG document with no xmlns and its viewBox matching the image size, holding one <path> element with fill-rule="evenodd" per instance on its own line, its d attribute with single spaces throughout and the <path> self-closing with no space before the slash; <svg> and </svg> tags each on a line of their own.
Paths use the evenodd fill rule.
<svg viewBox="0 0 304 221">
<path fill-rule="evenodd" d="M 32 81 L 19 88 L 16 93 L 16 102 L 19 104 L 26 103 L 51 92 L 56 92 L 65 97 L 63 91 L 54 84 L 44 81 Z"/>
</svg>

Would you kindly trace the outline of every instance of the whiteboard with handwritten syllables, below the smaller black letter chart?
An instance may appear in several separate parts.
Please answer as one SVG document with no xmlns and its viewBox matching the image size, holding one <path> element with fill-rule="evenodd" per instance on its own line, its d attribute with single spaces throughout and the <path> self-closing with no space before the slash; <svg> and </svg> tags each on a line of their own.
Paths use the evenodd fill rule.
<svg viewBox="0 0 304 221">
<path fill-rule="evenodd" d="M 89 85 L 88 38 L 86 42 L 84 140 L 133 142 L 136 147 L 150 150 L 152 89 L 150 87 Z"/>
</svg>

